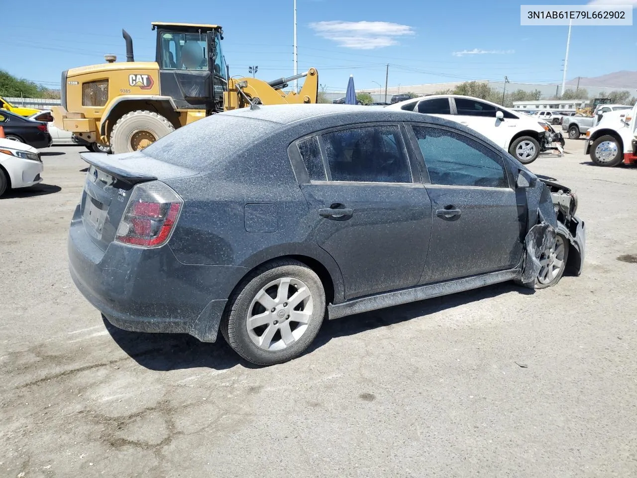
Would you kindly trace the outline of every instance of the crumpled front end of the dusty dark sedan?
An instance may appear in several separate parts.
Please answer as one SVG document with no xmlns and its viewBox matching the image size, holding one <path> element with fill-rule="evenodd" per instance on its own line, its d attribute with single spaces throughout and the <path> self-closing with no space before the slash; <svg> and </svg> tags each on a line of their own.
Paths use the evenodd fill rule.
<svg viewBox="0 0 637 478">
<path fill-rule="evenodd" d="M 526 189 L 529 223 L 524 243 L 527 253 L 520 275 L 520 282 L 532 289 L 536 287 L 536 277 L 542 267 L 541 258 L 547 250 L 554 249 L 557 235 L 568 244 L 566 270 L 574 275 L 582 273 L 586 243 L 584 222 L 575 215 L 575 193 L 552 178 L 538 179 Z"/>
</svg>

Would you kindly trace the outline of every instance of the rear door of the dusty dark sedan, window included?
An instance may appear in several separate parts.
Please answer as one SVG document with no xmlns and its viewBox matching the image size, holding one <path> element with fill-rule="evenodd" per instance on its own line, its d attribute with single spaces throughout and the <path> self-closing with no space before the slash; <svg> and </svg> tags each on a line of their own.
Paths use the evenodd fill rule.
<svg viewBox="0 0 637 478">
<path fill-rule="evenodd" d="M 340 267 L 345 299 L 420 279 L 431 203 L 402 128 L 350 126 L 297 142 L 313 240 Z"/>
</svg>

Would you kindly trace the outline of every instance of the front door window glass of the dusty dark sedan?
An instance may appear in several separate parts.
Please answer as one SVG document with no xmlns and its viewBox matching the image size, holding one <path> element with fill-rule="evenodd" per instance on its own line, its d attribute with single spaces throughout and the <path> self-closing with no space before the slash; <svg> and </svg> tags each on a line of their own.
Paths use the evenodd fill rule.
<svg viewBox="0 0 637 478">
<path fill-rule="evenodd" d="M 413 127 L 431 184 L 509 187 L 501 157 L 467 136 L 434 127 Z"/>
</svg>

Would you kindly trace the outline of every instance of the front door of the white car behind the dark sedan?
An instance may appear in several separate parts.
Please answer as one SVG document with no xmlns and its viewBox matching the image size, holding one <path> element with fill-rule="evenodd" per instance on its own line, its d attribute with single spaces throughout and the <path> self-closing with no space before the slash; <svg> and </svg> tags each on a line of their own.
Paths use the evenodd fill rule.
<svg viewBox="0 0 637 478">
<path fill-rule="evenodd" d="M 465 126 L 487 136 L 489 140 L 501 148 L 506 148 L 517 127 L 517 118 L 510 117 L 505 121 L 496 118 L 496 105 L 473 98 L 454 98 L 458 121 Z M 512 115 L 510 115 L 512 116 Z"/>
</svg>

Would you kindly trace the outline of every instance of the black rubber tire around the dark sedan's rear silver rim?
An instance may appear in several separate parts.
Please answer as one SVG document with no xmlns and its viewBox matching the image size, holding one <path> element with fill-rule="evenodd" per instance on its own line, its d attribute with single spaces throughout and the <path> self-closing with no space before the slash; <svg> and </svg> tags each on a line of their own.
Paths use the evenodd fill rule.
<svg viewBox="0 0 637 478">
<path fill-rule="evenodd" d="M 296 342 L 282 350 L 268 351 L 259 347 L 253 342 L 253 338 L 250 338 L 247 324 L 248 315 L 252 314 L 253 311 L 248 309 L 262 288 L 282 277 L 297 279 L 308 287 L 311 294 L 312 311 L 307 328 Z M 292 259 L 271 261 L 251 272 L 236 288 L 225 308 L 224 317 L 222 317 L 220 324 L 221 333 L 234 351 L 248 362 L 255 365 L 274 365 L 287 362 L 301 355 L 316 337 L 325 316 L 325 301 L 323 284 L 318 275 L 308 266 Z M 264 327 L 269 329 L 270 326 L 267 324 Z M 274 337 L 276 337 L 276 333 Z"/>
</svg>

